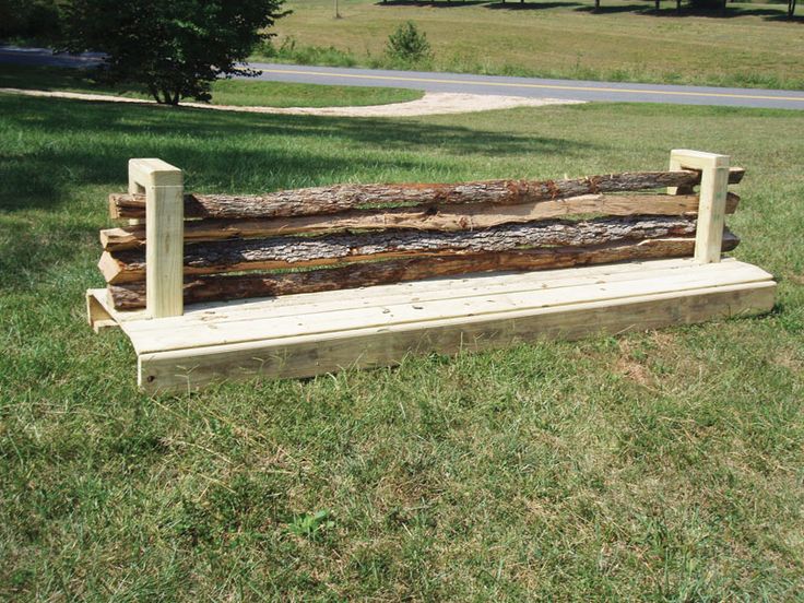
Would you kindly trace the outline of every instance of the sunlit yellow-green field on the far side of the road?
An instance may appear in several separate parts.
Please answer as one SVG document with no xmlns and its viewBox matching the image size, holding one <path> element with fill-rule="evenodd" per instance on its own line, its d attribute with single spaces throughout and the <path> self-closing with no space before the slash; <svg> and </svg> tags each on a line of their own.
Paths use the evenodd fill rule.
<svg viewBox="0 0 804 603">
<path fill-rule="evenodd" d="M 804 25 L 785 4 L 729 3 L 726 16 L 682 16 L 675 2 L 288 0 L 274 60 L 405 67 L 385 57 L 388 35 L 412 20 L 434 59 L 422 69 L 587 80 L 804 88 Z M 687 9 L 685 9 L 687 10 Z"/>
</svg>

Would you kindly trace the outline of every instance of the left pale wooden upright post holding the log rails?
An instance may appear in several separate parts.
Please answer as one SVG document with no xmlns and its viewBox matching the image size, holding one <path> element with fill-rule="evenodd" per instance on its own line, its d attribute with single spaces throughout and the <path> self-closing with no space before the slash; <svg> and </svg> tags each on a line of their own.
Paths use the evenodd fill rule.
<svg viewBox="0 0 804 603">
<path fill-rule="evenodd" d="M 185 201 L 181 170 L 129 161 L 129 192 L 145 193 L 145 305 L 151 318 L 184 312 Z"/>
</svg>

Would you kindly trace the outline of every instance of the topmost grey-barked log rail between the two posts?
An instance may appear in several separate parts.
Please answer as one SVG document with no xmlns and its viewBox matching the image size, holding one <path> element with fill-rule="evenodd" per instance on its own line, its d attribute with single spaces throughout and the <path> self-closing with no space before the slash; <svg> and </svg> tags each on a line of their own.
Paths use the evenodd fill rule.
<svg viewBox="0 0 804 603">
<path fill-rule="evenodd" d="M 730 182 L 738 182 L 744 172 L 733 168 Z M 700 182 L 696 170 L 637 172 L 588 176 L 569 180 L 489 180 L 458 185 L 335 185 L 283 190 L 263 196 L 187 194 L 185 217 L 217 220 L 265 218 L 332 214 L 359 208 L 423 203 L 497 203 L 512 205 L 661 187 L 689 187 Z M 109 196 L 111 217 L 144 217 L 143 194 Z"/>
</svg>

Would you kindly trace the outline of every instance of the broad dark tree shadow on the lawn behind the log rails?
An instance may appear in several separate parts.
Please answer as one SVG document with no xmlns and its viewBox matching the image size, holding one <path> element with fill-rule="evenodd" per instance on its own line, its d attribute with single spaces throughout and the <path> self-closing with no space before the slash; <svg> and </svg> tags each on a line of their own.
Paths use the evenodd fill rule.
<svg viewBox="0 0 804 603">
<path fill-rule="evenodd" d="M 451 155 L 572 152 L 591 144 L 417 120 L 226 114 L 193 108 L 131 106 L 0 96 L 12 145 L 0 164 L 0 210 L 54 210 L 71 188 L 121 190 L 131 157 L 161 157 L 186 170 L 188 188 L 259 192 L 359 177 L 371 170 L 415 170 L 421 151 Z M 438 156 L 429 155 L 438 162 Z"/>
</svg>

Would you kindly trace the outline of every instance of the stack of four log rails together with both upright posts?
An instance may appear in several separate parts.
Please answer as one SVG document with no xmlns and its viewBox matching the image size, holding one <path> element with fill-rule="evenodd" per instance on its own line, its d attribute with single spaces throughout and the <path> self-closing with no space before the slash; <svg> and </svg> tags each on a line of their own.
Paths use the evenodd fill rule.
<svg viewBox="0 0 804 603">
<path fill-rule="evenodd" d="M 667 172 L 182 194 L 180 170 L 132 159 L 129 192 L 109 198 L 129 224 L 100 232 L 98 265 L 114 308 L 161 317 L 199 302 L 495 270 L 712 262 L 738 244 L 723 218 L 740 201 L 728 184 L 743 175 L 724 155 L 673 151 Z"/>
</svg>

